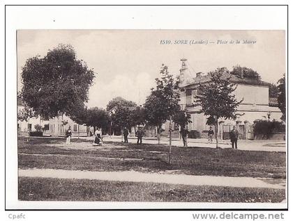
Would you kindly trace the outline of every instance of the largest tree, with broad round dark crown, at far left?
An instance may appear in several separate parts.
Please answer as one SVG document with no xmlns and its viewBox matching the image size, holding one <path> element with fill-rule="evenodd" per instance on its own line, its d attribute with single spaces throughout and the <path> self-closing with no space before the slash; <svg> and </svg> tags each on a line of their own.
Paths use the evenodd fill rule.
<svg viewBox="0 0 293 221">
<path fill-rule="evenodd" d="M 73 47 L 59 44 L 43 58 L 27 59 L 22 67 L 21 97 L 41 117 L 71 115 L 88 100 L 93 78 L 93 70 L 77 60 Z"/>
</svg>

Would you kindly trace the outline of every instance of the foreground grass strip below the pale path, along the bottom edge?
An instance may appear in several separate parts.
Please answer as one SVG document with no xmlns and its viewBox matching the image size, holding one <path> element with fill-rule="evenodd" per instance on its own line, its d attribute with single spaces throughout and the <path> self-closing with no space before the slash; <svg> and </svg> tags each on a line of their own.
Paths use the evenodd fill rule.
<svg viewBox="0 0 293 221">
<path fill-rule="evenodd" d="M 282 202 L 285 190 L 20 177 L 24 201 Z"/>
</svg>

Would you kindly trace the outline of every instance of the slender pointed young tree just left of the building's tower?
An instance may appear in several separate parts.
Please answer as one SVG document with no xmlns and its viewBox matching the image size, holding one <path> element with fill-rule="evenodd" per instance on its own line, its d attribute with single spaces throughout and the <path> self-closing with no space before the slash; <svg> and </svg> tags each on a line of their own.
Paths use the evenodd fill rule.
<svg viewBox="0 0 293 221">
<path fill-rule="evenodd" d="M 144 103 L 148 124 L 158 127 L 158 143 L 160 143 L 162 124 L 172 120 L 172 117 L 180 111 L 178 85 L 178 79 L 174 79 L 168 67 L 163 64 L 160 78 L 156 79 L 156 89 L 151 88 L 151 95 Z"/>
</svg>

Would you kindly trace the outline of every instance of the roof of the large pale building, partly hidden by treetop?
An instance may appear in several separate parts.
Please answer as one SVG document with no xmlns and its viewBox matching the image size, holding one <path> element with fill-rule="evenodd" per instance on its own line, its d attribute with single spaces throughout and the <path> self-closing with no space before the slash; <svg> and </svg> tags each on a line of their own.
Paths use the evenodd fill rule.
<svg viewBox="0 0 293 221">
<path fill-rule="evenodd" d="M 241 83 L 241 84 L 246 84 L 246 85 L 262 85 L 262 86 L 269 86 L 269 83 L 265 81 L 257 81 L 256 79 L 248 79 L 248 78 L 241 78 L 239 76 L 236 76 L 234 74 L 230 73 L 223 73 L 223 79 L 230 78 L 230 81 L 232 83 Z M 192 83 L 188 83 L 187 85 L 184 85 L 183 87 L 189 87 L 192 85 L 197 85 L 199 83 L 208 83 L 211 81 L 211 74 L 206 74 L 203 76 L 197 76 L 193 78 Z"/>
</svg>

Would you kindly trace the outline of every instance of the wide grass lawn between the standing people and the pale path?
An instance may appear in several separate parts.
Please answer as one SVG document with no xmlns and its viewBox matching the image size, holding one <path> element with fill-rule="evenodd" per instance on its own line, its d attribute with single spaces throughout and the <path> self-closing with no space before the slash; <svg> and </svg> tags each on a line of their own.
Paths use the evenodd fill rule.
<svg viewBox="0 0 293 221">
<path fill-rule="evenodd" d="M 81 147 L 91 145 L 89 140 L 73 139 L 75 145 L 78 146 L 79 142 Z M 177 174 L 193 175 L 286 177 L 286 154 L 283 152 L 172 147 L 172 162 L 168 165 L 168 147 L 165 145 L 105 142 L 103 148 L 97 149 L 66 149 L 65 147 L 64 140 L 58 138 L 31 138 L 30 142 L 20 138 L 18 140 L 19 168 L 172 171 Z"/>
</svg>

